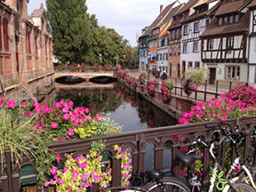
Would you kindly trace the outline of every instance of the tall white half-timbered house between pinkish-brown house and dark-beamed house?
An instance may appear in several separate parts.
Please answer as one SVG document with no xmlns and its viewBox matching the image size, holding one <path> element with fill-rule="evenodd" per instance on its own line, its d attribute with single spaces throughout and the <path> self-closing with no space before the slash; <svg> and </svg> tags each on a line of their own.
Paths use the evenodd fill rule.
<svg viewBox="0 0 256 192">
<path fill-rule="evenodd" d="M 180 53 L 180 70 L 181 76 L 185 76 L 188 68 L 202 68 L 201 61 L 201 40 L 200 37 L 206 29 L 214 12 L 220 6 L 220 0 L 201 0 L 194 6 L 194 13 L 183 20 L 181 37 L 181 53 Z"/>
</svg>

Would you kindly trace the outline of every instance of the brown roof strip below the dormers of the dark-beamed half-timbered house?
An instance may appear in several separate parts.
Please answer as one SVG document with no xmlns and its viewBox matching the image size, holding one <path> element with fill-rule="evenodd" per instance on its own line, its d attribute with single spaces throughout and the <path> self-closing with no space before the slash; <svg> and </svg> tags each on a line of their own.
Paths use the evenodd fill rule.
<svg viewBox="0 0 256 192">
<path fill-rule="evenodd" d="M 250 20 L 250 12 L 245 12 L 244 16 L 238 23 L 232 25 L 218 27 L 218 18 L 214 17 L 201 37 L 224 35 L 230 33 L 238 33 L 247 31 L 249 28 L 248 20 Z"/>
</svg>

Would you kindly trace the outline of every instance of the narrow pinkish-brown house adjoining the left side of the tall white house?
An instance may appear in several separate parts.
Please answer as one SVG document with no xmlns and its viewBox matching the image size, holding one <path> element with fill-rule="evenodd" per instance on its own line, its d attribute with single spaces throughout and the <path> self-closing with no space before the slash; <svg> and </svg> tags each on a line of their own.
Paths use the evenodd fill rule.
<svg viewBox="0 0 256 192">
<path fill-rule="evenodd" d="M 169 31 L 169 57 L 168 57 L 168 75 L 180 77 L 180 51 L 181 51 L 181 21 L 187 20 L 194 10 L 192 7 L 197 0 L 189 0 L 174 16 Z"/>
</svg>

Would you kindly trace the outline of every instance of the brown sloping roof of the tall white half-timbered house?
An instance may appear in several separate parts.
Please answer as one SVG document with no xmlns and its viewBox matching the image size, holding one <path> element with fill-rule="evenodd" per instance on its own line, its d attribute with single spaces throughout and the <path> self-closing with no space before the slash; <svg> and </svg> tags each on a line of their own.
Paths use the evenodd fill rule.
<svg viewBox="0 0 256 192">
<path fill-rule="evenodd" d="M 207 1 L 207 4 L 209 4 L 210 2 L 214 2 L 214 1 L 217 1 L 217 0 L 208 0 Z M 256 0 L 255 0 L 256 1 Z M 205 4 L 205 3 L 204 3 Z M 190 15 L 188 17 L 188 19 L 186 20 L 183 20 L 182 21 L 182 24 L 186 24 L 188 22 L 191 22 L 191 21 L 194 21 L 194 20 L 200 20 L 201 18 L 204 18 L 205 16 L 208 16 L 208 15 L 212 15 L 214 14 L 214 12 L 217 11 L 217 9 L 220 7 L 220 4 L 221 4 L 221 1 L 219 1 L 217 4 L 215 4 L 214 6 L 212 6 L 211 9 L 205 11 L 205 12 L 201 12 L 199 14 L 196 14 L 196 12 L 194 12 L 192 15 Z M 200 4 L 202 5 L 202 4 Z"/>
</svg>

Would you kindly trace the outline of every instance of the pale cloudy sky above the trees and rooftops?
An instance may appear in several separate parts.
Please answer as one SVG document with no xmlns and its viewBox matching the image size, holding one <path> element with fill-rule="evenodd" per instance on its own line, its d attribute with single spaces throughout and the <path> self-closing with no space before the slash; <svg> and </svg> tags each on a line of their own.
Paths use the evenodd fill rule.
<svg viewBox="0 0 256 192">
<path fill-rule="evenodd" d="M 100 26 L 115 28 L 117 33 L 137 45 L 136 34 L 156 19 L 160 4 L 164 7 L 174 0 L 86 0 L 88 12 L 97 15 Z M 181 0 L 180 2 L 185 2 Z M 45 0 L 30 0 L 28 14 L 38 9 Z"/>
</svg>

